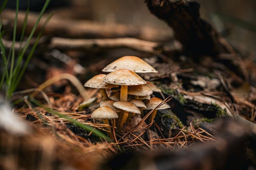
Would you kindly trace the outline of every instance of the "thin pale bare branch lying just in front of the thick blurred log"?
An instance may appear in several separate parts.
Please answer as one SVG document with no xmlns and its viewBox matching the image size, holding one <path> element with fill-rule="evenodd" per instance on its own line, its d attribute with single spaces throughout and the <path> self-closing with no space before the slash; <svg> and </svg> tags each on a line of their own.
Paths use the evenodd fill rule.
<svg viewBox="0 0 256 170">
<path fill-rule="evenodd" d="M 12 48 L 12 41 L 2 39 L 6 48 Z M 39 45 L 42 45 L 49 50 L 78 50 L 78 51 L 90 51 L 92 49 L 112 49 L 127 47 L 132 50 L 146 52 L 146 53 L 161 53 L 161 51 L 167 49 L 168 51 L 180 50 L 179 46 L 173 45 L 172 47 L 165 48 L 163 45 L 157 42 L 140 40 L 137 38 L 102 38 L 102 39 L 70 39 L 52 37 L 50 42 L 47 39 L 42 39 Z M 14 48 L 16 51 L 19 48 L 23 48 L 26 42 L 15 42 Z M 33 41 L 30 42 L 33 45 Z"/>
</svg>

